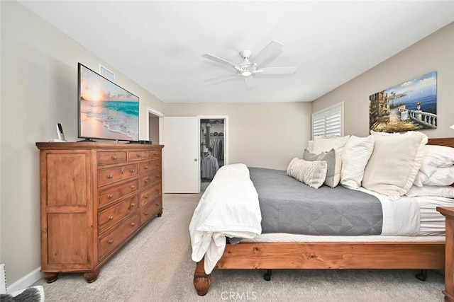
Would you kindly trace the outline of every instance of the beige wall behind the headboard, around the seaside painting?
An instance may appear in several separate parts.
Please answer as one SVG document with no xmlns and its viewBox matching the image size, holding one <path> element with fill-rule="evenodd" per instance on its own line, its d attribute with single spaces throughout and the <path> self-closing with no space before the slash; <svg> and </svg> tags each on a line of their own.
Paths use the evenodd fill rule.
<svg viewBox="0 0 454 302">
<path fill-rule="evenodd" d="M 344 101 L 345 134 L 366 136 L 369 95 L 431 71 L 437 72 L 438 128 L 422 132 L 429 138 L 453 137 L 449 126 L 454 124 L 454 23 L 315 100 L 314 112 Z"/>
</svg>

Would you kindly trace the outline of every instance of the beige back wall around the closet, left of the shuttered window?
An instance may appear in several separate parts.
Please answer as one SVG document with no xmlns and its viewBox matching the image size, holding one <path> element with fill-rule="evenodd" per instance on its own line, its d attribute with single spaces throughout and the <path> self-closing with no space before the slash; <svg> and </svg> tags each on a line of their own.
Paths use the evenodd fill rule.
<svg viewBox="0 0 454 302">
<path fill-rule="evenodd" d="M 228 161 L 285 170 L 303 156 L 311 103 L 166 103 L 166 116 L 227 115 Z"/>
</svg>

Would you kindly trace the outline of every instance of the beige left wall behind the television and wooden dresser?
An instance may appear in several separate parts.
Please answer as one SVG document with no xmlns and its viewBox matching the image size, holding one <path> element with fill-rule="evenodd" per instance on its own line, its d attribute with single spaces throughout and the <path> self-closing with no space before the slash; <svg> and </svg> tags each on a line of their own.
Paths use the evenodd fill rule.
<svg viewBox="0 0 454 302">
<path fill-rule="evenodd" d="M 77 62 L 116 73 L 116 83 L 140 98 L 141 134 L 148 108 L 163 103 L 16 1 L 1 6 L 0 256 L 11 285 L 40 267 L 39 162 L 36 141 L 57 137 L 62 123 L 77 140 Z M 140 139 L 148 139 L 141 137 Z"/>
</svg>

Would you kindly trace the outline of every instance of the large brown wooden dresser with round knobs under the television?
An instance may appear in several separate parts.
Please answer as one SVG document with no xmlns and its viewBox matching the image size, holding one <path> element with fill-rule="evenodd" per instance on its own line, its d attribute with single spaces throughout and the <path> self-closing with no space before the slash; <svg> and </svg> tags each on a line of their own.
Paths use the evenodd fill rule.
<svg viewBox="0 0 454 302">
<path fill-rule="evenodd" d="M 96 280 L 145 223 L 162 214 L 162 147 L 36 143 L 40 150 L 41 272 Z"/>
</svg>

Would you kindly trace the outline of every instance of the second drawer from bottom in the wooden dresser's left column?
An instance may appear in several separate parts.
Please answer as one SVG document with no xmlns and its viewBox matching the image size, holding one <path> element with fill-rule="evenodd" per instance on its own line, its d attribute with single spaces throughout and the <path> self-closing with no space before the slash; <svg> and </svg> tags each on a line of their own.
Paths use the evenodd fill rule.
<svg viewBox="0 0 454 302">
<path fill-rule="evenodd" d="M 118 221 L 121 221 L 121 219 L 133 213 L 137 208 L 137 195 L 135 195 L 104 211 L 100 211 L 98 213 L 98 232 L 102 233 L 106 231 L 106 229 L 114 226 Z"/>
</svg>

